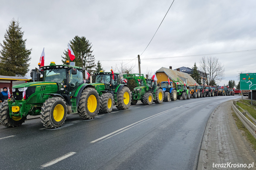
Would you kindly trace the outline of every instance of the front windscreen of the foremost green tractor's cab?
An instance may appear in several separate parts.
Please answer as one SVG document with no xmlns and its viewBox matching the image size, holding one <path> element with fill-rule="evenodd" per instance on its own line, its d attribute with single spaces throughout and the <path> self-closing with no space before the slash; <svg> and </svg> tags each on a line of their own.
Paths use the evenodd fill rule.
<svg viewBox="0 0 256 170">
<path fill-rule="evenodd" d="M 66 79 L 66 69 L 51 69 L 45 70 L 43 75 L 44 82 L 61 83 Z"/>
</svg>

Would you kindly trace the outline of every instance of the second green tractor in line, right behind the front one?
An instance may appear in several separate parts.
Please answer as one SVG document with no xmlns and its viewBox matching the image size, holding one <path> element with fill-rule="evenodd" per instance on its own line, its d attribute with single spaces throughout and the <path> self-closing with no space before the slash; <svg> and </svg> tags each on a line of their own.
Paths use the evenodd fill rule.
<svg viewBox="0 0 256 170">
<path fill-rule="evenodd" d="M 112 70 L 111 70 L 112 71 Z M 131 105 L 131 91 L 128 85 L 120 83 L 120 74 L 103 72 L 93 74 L 93 87 L 100 96 L 100 113 L 110 113 L 114 103 L 117 109 L 125 110 Z"/>
</svg>

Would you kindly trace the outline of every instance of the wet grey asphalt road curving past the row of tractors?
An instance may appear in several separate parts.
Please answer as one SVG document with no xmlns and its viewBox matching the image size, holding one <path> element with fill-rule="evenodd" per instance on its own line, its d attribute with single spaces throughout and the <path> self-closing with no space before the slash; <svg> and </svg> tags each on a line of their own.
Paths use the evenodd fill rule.
<svg viewBox="0 0 256 170">
<path fill-rule="evenodd" d="M 57 129 L 45 129 L 40 119 L 0 125 L 0 169 L 196 169 L 209 116 L 239 97 L 114 107 L 93 120 L 72 114 Z"/>
</svg>

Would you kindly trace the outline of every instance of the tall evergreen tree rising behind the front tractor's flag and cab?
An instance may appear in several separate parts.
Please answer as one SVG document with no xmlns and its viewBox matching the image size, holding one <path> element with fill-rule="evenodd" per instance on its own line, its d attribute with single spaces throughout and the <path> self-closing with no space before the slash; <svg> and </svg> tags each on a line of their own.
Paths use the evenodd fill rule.
<svg viewBox="0 0 256 170">
<path fill-rule="evenodd" d="M 76 62 L 76 66 L 84 67 L 90 74 L 95 71 L 95 59 L 92 55 L 92 43 L 86 39 L 86 37 L 75 36 L 72 41 L 69 42 L 70 47 L 72 48 L 75 59 L 73 62 Z M 66 64 L 66 61 L 69 60 L 68 48 L 63 52 L 64 56 L 61 56 L 63 64 Z"/>
</svg>

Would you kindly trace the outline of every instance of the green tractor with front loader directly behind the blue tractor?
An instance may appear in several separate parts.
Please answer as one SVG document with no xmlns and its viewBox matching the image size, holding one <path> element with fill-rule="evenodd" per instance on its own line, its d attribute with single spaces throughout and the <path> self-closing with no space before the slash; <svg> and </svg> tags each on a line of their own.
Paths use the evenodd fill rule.
<svg viewBox="0 0 256 170">
<path fill-rule="evenodd" d="M 181 97 L 183 100 L 190 99 L 190 91 L 187 90 L 186 84 L 182 84 L 179 78 L 173 78 L 172 81 L 176 84 L 177 99 Z"/>
</svg>

